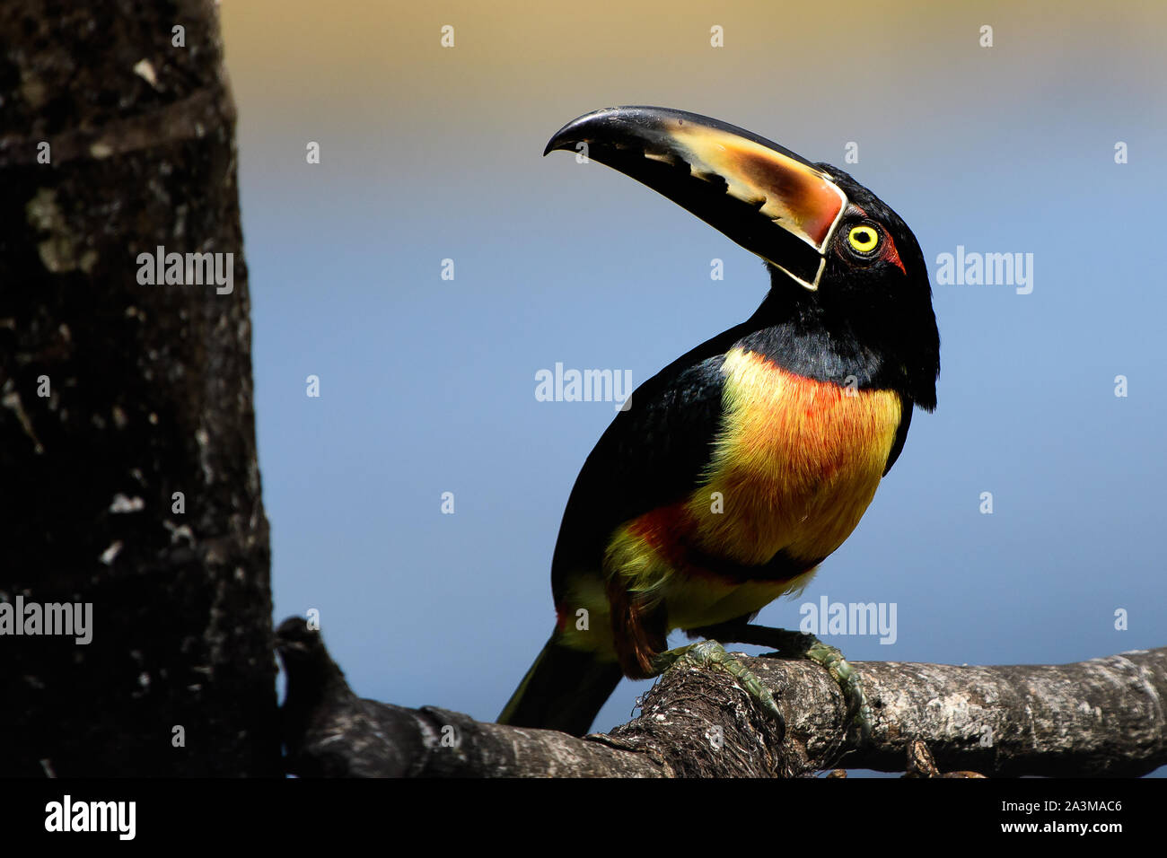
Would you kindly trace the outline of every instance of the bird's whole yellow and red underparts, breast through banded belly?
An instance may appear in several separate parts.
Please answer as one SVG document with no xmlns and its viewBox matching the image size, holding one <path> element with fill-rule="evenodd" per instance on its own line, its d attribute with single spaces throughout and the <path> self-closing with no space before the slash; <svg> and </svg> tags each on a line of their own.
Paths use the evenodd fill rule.
<svg viewBox="0 0 1167 858">
<path fill-rule="evenodd" d="M 750 614 L 805 586 L 859 524 L 900 425 L 890 391 L 816 382 L 736 348 L 724 372 L 725 417 L 706 482 L 617 528 L 605 553 L 605 578 L 645 605 L 664 602 L 670 629 Z M 749 573 L 780 552 L 791 561 L 782 571 Z M 710 558 L 742 568 L 720 574 Z M 573 598 L 602 611 L 601 587 Z"/>
</svg>

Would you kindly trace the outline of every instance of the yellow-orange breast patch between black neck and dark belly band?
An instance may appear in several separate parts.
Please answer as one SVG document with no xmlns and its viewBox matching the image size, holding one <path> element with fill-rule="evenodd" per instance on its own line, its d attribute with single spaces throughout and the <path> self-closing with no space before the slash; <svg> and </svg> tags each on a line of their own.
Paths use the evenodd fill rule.
<svg viewBox="0 0 1167 858">
<path fill-rule="evenodd" d="M 708 483 L 689 503 L 697 540 L 745 564 L 778 551 L 817 563 L 843 544 L 874 497 L 900 425 L 900 397 L 804 378 L 740 348 L 726 355 L 724 372 L 724 428 Z"/>
</svg>

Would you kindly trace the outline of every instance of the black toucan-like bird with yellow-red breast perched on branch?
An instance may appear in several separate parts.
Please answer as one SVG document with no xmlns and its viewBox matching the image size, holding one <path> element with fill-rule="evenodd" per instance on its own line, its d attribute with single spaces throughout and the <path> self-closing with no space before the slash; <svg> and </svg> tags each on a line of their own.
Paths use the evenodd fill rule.
<svg viewBox="0 0 1167 858">
<path fill-rule="evenodd" d="M 837 167 L 651 106 L 586 113 L 554 151 L 658 191 L 770 275 L 745 322 L 633 392 L 572 488 L 555 625 L 498 723 L 582 735 L 622 676 L 676 660 L 671 632 L 746 623 L 809 584 L 900 458 L 913 410 L 936 409 L 939 333 L 916 237 Z"/>
</svg>

